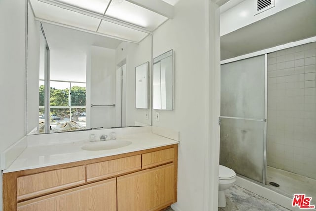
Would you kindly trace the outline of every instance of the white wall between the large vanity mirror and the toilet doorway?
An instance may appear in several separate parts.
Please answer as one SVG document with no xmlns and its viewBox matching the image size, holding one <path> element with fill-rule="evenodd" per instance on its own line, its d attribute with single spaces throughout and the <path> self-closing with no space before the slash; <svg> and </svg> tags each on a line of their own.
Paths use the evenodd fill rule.
<svg viewBox="0 0 316 211">
<path fill-rule="evenodd" d="M 217 209 L 218 140 L 211 139 L 209 134 L 213 129 L 213 111 L 209 111 L 213 84 L 209 80 L 215 66 L 219 72 L 219 40 L 213 45 L 217 36 L 215 25 L 218 26 L 214 7 L 208 0 L 180 0 L 175 5 L 174 18 L 153 34 L 153 57 L 174 50 L 174 110 L 153 110 L 153 117 L 159 112 L 159 122 L 156 118 L 152 122 L 154 126 L 180 132 L 178 202 L 172 206 L 177 211 Z M 219 38 L 219 28 L 217 31 Z M 217 50 L 216 64 L 216 55 L 209 52 L 212 49 Z M 215 193 L 210 193 L 210 189 Z"/>
</svg>

